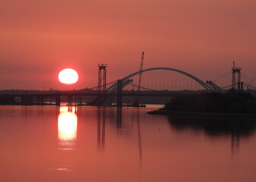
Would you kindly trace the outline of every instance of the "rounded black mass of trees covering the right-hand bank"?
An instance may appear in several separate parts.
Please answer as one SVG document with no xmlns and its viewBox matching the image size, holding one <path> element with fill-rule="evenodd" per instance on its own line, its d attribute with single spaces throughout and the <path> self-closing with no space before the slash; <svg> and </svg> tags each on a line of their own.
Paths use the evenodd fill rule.
<svg viewBox="0 0 256 182">
<path fill-rule="evenodd" d="M 256 98 L 249 93 L 238 92 L 175 96 L 163 109 L 168 111 L 256 114 Z"/>
</svg>

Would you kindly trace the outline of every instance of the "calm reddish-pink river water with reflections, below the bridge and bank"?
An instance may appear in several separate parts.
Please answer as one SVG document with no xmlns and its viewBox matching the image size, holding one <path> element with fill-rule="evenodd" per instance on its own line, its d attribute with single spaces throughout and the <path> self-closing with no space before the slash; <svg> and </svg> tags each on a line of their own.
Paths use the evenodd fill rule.
<svg viewBox="0 0 256 182">
<path fill-rule="evenodd" d="M 1 181 L 255 181 L 254 120 L 0 106 Z"/>
</svg>

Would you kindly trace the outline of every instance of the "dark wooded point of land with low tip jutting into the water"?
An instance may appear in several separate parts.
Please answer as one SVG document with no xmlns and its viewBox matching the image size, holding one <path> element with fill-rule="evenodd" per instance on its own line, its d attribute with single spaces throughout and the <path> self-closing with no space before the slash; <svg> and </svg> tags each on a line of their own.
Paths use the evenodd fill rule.
<svg viewBox="0 0 256 182">
<path fill-rule="evenodd" d="M 256 98 L 249 93 L 235 91 L 175 96 L 164 108 L 148 113 L 155 115 L 256 118 Z"/>
</svg>

